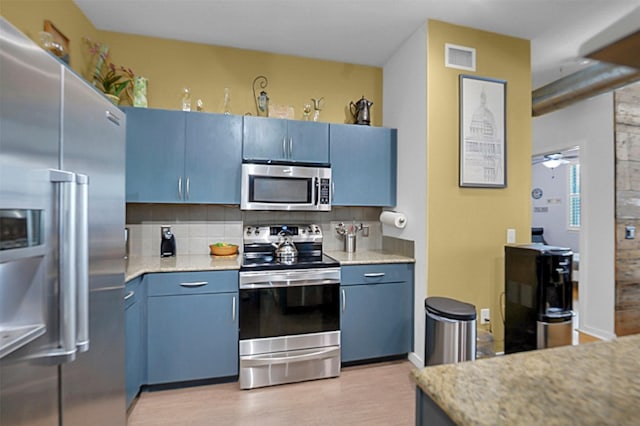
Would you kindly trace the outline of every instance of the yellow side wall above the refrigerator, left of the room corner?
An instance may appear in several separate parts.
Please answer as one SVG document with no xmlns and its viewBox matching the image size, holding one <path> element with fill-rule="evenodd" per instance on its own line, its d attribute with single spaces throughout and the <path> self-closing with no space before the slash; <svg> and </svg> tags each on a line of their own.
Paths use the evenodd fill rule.
<svg viewBox="0 0 640 426">
<path fill-rule="evenodd" d="M 82 38 L 95 39 L 98 31 L 71 0 L 1 0 L 0 14 L 29 38 L 38 41 L 48 19 L 69 39 L 70 65 L 84 74 L 91 58 Z"/>
</svg>

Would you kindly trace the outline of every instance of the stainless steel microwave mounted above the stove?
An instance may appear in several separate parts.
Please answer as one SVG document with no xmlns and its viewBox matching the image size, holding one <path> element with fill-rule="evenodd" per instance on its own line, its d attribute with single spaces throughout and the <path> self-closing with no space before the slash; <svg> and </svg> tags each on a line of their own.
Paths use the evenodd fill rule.
<svg viewBox="0 0 640 426">
<path fill-rule="evenodd" d="M 331 167 L 242 164 L 241 210 L 331 210 Z"/>
</svg>

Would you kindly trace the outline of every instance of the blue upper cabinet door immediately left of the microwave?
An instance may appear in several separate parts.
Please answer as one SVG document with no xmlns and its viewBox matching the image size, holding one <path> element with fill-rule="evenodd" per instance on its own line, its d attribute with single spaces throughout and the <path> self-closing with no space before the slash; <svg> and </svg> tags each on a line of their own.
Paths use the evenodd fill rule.
<svg viewBox="0 0 640 426">
<path fill-rule="evenodd" d="M 240 204 L 242 116 L 187 114 L 185 201 Z"/>
</svg>

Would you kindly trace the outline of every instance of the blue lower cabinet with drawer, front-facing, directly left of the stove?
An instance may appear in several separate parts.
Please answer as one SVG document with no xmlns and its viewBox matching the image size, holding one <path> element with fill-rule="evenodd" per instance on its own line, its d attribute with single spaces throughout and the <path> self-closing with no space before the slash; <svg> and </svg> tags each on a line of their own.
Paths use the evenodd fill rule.
<svg viewBox="0 0 640 426">
<path fill-rule="evenodd" d="M 237 271 L 150 274 L 149 278 L 147 383 L 236 376 Z M 175 294 L 167 294 L 168 280 L 173 281 Z"/>
</svg>

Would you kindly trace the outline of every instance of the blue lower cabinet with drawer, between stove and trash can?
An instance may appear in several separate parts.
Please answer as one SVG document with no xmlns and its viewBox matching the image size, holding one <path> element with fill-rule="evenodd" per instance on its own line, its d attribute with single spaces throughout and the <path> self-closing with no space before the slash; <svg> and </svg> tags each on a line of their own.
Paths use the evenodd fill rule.
<svg viewBox="0 0 640 426">
<path fill-rule="evenodd" d="M 409 266 L 409 267 L 408 267 Z M 381 265 L 376 265 L 376 274 Z M 402 355 L 413 345 L 413 265 L 402 266 L 407 274 L 395 282 L 367 284 L 345 283 L 341 286 L 341 360 L 362 361 Z M 349 276 L 343 267 L 342 276 Z M 396 276 L 396 265 L 387 275 Z M 347 272 L 345 273 L 345 269 Z M 383 268 L 384 269 L 384 268 Z"/>
</svg>

